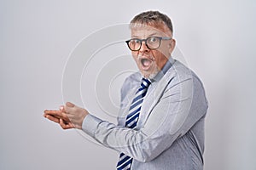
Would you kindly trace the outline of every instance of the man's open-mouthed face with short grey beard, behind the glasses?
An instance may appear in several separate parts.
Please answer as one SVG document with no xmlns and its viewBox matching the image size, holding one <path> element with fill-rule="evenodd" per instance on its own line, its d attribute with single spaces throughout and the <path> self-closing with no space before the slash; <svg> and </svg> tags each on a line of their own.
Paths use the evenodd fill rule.
<svg viewBox="0 0 256 170">
<path fill-rule="evenodd" d="M 148 37 L 172 37 L 172 32 L 165 24 L 155 26 L 134 26 L 131 28 L 131 38 L 146 39 Z M 171 56 L 175 40 L 161 40 L 160 48 L 149 49 L 145 42 L 138 51 L 131 54 L 137 63 L 138 69 L 145 78 L 153 78 L 161 71 Z"/>
</svg>

